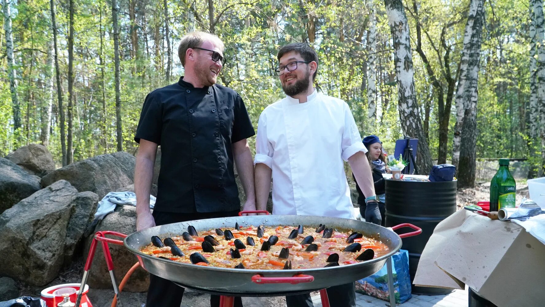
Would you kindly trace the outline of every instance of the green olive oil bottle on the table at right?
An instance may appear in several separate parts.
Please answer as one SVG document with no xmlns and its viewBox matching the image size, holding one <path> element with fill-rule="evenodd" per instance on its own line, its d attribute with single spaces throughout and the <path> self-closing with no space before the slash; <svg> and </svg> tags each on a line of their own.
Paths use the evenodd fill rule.
<svg viewBox="0 0 545 307">
<path fill-rule="evenodd" d="M 509 172 L 509 159 L 500 159 L 500 168 L 490 182 L 490 212 L 500 208 L 514 208 L 516 184 Z"/>
</svg>

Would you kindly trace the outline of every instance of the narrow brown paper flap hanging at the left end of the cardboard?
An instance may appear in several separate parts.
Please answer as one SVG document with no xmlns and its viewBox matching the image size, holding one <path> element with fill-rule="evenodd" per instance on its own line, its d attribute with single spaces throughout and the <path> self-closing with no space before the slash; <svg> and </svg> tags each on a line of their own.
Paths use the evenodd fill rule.
<svg viewBox="0 0 545 307">
<path fill-rule="evenodd" d="M 464 282 L 444 272 L 435 264 L 435 259 L 456 234 L 465 219 L 471 215 L 468 210 L 458 210 L 441 221 L 433 231 L 422 251 L 413 284 L 422 287 L 455 288 L 463 290 Z"/>
</svg>

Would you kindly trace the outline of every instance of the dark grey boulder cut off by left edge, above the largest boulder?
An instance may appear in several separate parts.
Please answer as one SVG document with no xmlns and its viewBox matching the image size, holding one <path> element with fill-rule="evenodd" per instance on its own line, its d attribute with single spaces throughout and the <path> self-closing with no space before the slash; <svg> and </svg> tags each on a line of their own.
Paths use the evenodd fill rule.
<svg viewBox="0 0 545 307">
<path fill-rule="evenodd" d="M 19 165 L 0 158 L 0 214 L 40 189 L 40 177 L 23 171 Z"/>
</svg>

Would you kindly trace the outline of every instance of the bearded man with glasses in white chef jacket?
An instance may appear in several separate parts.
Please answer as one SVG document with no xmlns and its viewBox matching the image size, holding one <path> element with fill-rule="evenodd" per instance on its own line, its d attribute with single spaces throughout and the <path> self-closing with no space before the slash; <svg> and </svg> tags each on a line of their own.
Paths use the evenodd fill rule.
<svg viewBox="0 0 545 307">
<path fill-rule="evenodd" d="M 378 212 L 367 149 L 348 104 L 313 87 L 316 51 L 305 43 L 289 44 L 277 58 L 275 71 L 286 98 L 259 116 L 254 160 L 257 209 L 267 207 L 272 177 L 273 214 L 354 219 L 344 160 L 367 197 L 367 206 L 376 206 Z M 327 291 L 335 306 L 355 306 L 353 282 Z M 286 303 L 313 306 L 309 294 L 288 296 Z"/>
</svg>

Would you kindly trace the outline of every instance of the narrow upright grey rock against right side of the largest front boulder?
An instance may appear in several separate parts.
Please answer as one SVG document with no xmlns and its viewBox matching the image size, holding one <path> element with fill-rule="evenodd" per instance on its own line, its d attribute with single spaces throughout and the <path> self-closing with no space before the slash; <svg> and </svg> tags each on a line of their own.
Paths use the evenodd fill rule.
<svg viewBox="0 0 545 307">
<path fill-rule="evenodd" d="M 93 221 L 99 196 L 90 191 L 78 193 L 74 198 L 74 206 L 68 225 L 66 226 L 66 240 L 64 249 L 64 263 L 69 264 L 72 256 L 86 231 L 87 226 Z"/>
</svg>

